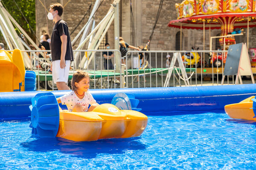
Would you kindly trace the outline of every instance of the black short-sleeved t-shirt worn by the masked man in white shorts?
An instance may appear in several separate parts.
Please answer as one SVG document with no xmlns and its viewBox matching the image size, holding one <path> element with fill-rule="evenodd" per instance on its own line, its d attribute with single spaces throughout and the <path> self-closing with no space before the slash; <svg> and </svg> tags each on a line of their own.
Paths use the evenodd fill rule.
<svg viewBox="0 0 256 170">
<path fill-rule="evenodd" d="M 74 60 L 67 23 L 64 20 L 59 20 L 55 24 L 52 31 L 52 37 L 51 37 L 52 61 L 61 59 L 61 35 L 63 34 L 67 35 L 67 51 L 65 55 L 65 60 L 71 60 L 71 61 Z"/>
</svg>

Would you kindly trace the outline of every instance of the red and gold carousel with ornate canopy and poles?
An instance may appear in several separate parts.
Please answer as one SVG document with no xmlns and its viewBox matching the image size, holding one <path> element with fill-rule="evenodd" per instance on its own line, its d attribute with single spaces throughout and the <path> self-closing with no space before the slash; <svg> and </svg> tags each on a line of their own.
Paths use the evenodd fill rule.
<svg viewBox="0 0 256 170">
<path fill-rule="evenodd" d="M 205 50 L 205 30 L 209 30 L 210 51 L 212 38 L 218 38 L 220 45 L 223 46 L 222 49 L 227 50 L 229 45 L 236 43 L 235 36 L 246 33 L 249 49 L 249 27 L 256 26 L 256 0 L 184 0 L 180 4 L 176 3 L 175 7 L 177 20 L 170 21 L 168 26 L 180 28 L 180 50 L 182 50 L 182 29 L 203 30 L 203 50 Z M 244 32 L 243 28 L 247 28 L 247 32 Z M 221 29 L 221 36 L 211 37 L 211 29 Z M 222 57 L 221 62 L 225 62 L 225 57 Z M 215 58 L 217 61 L 220 60 L 216 56 Z"/>
</svg>

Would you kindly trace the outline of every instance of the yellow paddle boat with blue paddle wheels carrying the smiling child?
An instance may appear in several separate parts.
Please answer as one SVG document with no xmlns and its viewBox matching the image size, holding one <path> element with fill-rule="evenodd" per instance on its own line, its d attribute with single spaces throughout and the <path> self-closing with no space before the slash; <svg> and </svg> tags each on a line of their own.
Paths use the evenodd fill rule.
<svg viewBox="0 0 256 170">
<path fill-rule="evenodd" d="M 56 136 L 76 142 L 140 136 L 147 126 L 148 117 L 134 111 L 139 110 L 137 108 L 122 110 L 129 106 L 132 108 L 133 101 L 135 105 L 138 104 L 137 99 L 119 95 L 112 101 L 119 107 L 105 103 L 91 112 L 79 113 L 59 110 L 54 94 L 40 93 L 32 98 L 30 107 L 32 134 L 39 137 Z"/>
</svg>

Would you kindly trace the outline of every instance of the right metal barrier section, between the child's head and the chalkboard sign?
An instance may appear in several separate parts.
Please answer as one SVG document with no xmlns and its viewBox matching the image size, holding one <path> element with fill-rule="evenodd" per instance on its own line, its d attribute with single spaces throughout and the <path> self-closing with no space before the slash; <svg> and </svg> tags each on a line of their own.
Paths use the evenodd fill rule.
<svg viewBox="0 0 256 170">
<path fill-rule="evenodd" d="M 177 53 L 180 53 L 183 67 L 178 63 L 179 57 L 171 64 Z M 221 85 L 226 57 L 227 51 L 128 51 L 125 87 Z M 233 85 L 235 78 L 228 76 L 224 85 Z"/>
</svg>

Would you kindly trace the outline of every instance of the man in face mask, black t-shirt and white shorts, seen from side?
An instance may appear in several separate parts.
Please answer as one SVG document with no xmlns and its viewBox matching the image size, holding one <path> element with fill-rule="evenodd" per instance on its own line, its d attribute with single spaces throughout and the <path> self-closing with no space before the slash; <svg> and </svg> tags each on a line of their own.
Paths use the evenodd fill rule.
<svg viewBox="0 0 256 170">
<path fill-rule="evenodd" d="M 50 5 L 47 15 L 54 20 L 55 26 L 51 36 L 52 79 L 58 90 L 70 90 L 67 86 L 70 62 L 73 61 L 73 50 L 67 23 L 61 20 L 63 6 L 60 3 Z"/>
</svg>

